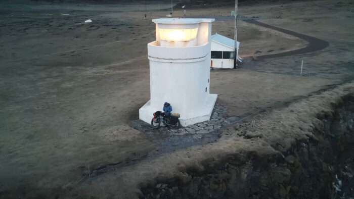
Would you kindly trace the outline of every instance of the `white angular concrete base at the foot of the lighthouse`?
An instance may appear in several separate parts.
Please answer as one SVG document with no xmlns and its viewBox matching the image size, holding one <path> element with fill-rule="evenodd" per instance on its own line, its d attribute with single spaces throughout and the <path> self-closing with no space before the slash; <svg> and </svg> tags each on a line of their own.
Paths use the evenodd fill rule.
<svg viewBox="0 0 354 199">
<path fill-rule="evenodd" d="M 209 94 L 206 105 L 203 110 L 200 110 L 199 112 L 181 114 L 180 117 L 181 125 L 189 126 L 195 123 L 210 120 L 210 116 L 214 108 L 216 98 L 217 98 L 217 94 Z M 152 107 L 150 105 L 150 101 L 148 101 L 142 108 L 139 109 L 139 119 L 150 124 L 151 119 L 154 117 L 153 113 L 158 110 L 159 109 Z"/>
</svg>

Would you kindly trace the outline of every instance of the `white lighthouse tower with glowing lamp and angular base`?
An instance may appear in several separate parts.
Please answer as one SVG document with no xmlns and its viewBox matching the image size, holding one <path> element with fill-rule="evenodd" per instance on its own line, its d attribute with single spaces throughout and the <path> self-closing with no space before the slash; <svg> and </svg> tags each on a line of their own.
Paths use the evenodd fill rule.
<svg viewBox="0 0 354 199">
<path fill-rule="evenodd" d="M 164 102 L 180 113 L 182 126 L 210 119 L 217 95 L 209 93 L 210 37 L 214 19 L 154 19 L 156 41 L 148 43 L 150 101 L 139 118 L 151 122 Z"/>
</svg>

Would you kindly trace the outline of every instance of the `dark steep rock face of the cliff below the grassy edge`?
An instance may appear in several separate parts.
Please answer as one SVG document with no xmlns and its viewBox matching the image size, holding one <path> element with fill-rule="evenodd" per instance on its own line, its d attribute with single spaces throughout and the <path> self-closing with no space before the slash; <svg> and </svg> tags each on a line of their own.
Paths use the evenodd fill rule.
<svg viewBox="0 0 354 199">
<path fill-rule="evenodd" d="M 143 189 L 141 198 L 352 198 L 354 196 L 354 96 L 319 114 L 316 139 L 301 140 L 278 157 L 256 154 L 226 163 L 190 180 Z M 237 196 L 236 196 L 237 195 Z"/>
</svg>

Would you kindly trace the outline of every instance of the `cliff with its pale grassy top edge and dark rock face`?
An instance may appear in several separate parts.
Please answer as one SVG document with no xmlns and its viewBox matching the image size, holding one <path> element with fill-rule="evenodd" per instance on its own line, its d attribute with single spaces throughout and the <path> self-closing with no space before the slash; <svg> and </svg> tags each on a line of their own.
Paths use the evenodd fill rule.
<svg viewBox="0 0 354 199">
<path fill-rule="evenodd" d="M 346 83 L 259 116 L 254 126 L 229 125 L 217 142 L 88 179 L 80 189 L 90 191 L 80 194 L 114 197 L 124 190 L 122 198 L 350 198 L 353 93 L 353 83 Z M 141 175 L 134 175 L 138 171 Z M 107 189 L 111 183 L 120 186 Z"/>
</svg>

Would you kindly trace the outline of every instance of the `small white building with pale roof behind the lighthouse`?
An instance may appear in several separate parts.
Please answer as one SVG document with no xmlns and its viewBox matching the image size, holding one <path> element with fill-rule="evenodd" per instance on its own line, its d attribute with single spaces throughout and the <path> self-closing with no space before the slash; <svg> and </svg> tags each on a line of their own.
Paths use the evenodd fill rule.
<svg viewBox="0 0 354 199">
<path fill-rule="evenodd" d="M 237 58 L 240 42 L 237 41 Z M 211 67 L 234 68 L 235 40 L 220 34 L 211 36 Z"/>
</svg>

